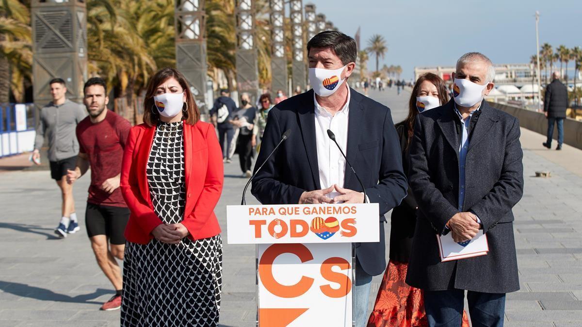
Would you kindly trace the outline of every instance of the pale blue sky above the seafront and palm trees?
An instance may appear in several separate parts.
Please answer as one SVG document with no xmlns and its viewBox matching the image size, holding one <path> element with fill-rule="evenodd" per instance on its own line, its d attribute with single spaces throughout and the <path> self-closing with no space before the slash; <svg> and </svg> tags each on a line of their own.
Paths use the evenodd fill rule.
<svg viewBox="0 0 582 327">
<path fill-rule="evenodd" d="M 581 0 L 311 2 L 343 33 L 353 36 L 361 26 L 363 47 L 372 34 L 383 35 L 388 52 L 380 67 L 400 65 L 406 79 L 413 77 L 414 66 L 453 65 L 469 51 L 482 52 L 494 63 L 529 62 L 535 54 L 535 10 L 540 12 L 540 45 L 582 47 Z M 374 56 L 368 67 L 375 69 Z"/>
</svg>

